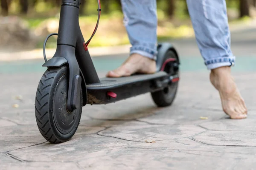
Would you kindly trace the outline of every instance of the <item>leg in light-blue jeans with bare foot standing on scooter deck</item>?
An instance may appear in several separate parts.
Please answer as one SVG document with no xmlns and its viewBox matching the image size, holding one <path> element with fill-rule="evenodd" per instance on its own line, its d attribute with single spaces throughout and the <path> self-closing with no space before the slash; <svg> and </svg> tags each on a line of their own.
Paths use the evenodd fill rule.
<svg viewBox="0 0 256 170">
<path fill-rule="evenodd" d="M 156 0 L 121 0 L 124 24 L 130 43 L 130 57 L 107 77 L 152 74 L 156 71 L 157 4 Z"/>
</svg>

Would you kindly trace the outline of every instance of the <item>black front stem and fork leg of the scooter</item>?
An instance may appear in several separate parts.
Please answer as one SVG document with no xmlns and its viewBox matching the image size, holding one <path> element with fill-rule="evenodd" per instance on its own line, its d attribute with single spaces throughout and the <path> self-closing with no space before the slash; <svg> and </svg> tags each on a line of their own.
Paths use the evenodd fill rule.
<svg viewBox="0 0 256 170">
<path fill-rule="evenodd" d="M 76 60 L 77 25 L 79 23 L 80 0 L 62 0 L 58 29 L 57 50 L 55 55 L 67 59 L 69 66 L 69 86 L 67 94 L 67 109 L 78 108 L 81 82 L 79 65 Z M 80 82 L 80 85 L 79 85 Z"/>
</svg>

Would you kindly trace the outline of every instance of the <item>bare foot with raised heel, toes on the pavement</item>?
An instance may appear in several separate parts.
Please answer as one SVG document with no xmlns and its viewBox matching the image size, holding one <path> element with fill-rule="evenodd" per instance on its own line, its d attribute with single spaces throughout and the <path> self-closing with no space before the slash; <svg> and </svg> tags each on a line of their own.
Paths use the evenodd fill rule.
<svg viewBox="0 0 256 170">
<path fill-rule="evenodd" d="M 231 68 L 220 67 L 213 69 L 210 74 L 210 80 L 212 85 L 219 91 L 223 111 L 231 119 L 246 118 L 247 108 L 231 76 Z"/>
</svg>

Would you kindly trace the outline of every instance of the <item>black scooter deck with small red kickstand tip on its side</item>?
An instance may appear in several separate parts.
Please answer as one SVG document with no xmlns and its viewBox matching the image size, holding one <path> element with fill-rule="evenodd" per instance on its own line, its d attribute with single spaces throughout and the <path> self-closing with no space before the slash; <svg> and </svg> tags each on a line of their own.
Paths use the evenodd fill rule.
<svg viewBox="0 0 256 170">
<path fill-rule="evenodd" d="M 138 74 L 129 77 L 102 78 L 100 83 L 87 84 L 87 103 L 107 104 L 132 96 L 163 89 L 157 81 L 168 78 L 168 74 L 159 71 L 155 74 Z"/>
</svg>

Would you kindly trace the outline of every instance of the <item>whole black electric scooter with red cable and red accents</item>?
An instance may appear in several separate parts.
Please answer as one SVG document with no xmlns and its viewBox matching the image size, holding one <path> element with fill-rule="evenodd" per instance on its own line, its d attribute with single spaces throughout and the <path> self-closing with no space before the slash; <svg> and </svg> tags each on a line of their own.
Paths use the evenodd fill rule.
<svg viewBox="0 0 256 170">
<path fill-rule="evenodd" d="M 179 57 L 169 43 L 157 46 L 157 71 L 129 77 L 99 79 L 90 57 L 88 44 L 99 25 L 101 14 L 90 39 L 85 42 L 79 26 L 80 0 L 62 0 L 58 34 L 44 42 L 43 67 L 47 67 L 38 84 L 35 118 L 41 135 L 51 143 L 70 140 L 76 133 L 82 107 L 102 105 L 151 93 L 158 107 L 172 104 L 179 82 Z M 47 40 L 57 35 L 54 56 L 47 60 Z"/>
</svg>

